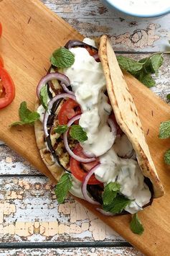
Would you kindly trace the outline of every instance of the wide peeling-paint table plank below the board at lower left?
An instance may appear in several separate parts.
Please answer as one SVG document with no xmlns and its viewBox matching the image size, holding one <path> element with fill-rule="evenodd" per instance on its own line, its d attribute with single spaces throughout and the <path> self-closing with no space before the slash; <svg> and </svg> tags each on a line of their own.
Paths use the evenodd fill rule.
<svg viewBox="0 0 170 256">
<path fill-rule="evenodd" d="M 0 177 L 0 198 L 1 242 L 123 241 L 74 198 L 59 206 L 47 177 Z"/>
</svg>

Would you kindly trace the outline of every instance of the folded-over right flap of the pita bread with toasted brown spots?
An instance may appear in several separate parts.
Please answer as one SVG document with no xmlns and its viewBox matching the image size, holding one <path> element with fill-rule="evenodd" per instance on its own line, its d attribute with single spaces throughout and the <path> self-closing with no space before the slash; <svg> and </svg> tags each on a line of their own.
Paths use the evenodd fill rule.
<svg viewBox="0 0 170 256">
<path fill-rule="evenodd" d="M 154 162 L 151 159 L 136 105 L 107 35 L 103 35 L 100 39 L 99 56 L 103 65 L 106 87 L 115 119 L 131 141 L 143 175 L 148 177 L 153 184 L 154 198 L 159 198 L 164 195 L 164 187 L 161 185 Z"/>
</svg>

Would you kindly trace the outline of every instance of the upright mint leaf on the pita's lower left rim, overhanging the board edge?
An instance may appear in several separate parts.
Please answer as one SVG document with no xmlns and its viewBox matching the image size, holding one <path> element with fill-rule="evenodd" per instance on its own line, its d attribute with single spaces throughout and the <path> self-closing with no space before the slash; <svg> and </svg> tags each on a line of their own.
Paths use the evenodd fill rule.
<svg viewBox="0 0 170 256">
<path fill-rule="evenodd" d="M 55 195 L 57 196 L 58 203 L 63 203 L 69 190 L 72 187 L 71 175 L 65 173 L 60 177 L 59 182 L 55 186 Z"/>
</svg>

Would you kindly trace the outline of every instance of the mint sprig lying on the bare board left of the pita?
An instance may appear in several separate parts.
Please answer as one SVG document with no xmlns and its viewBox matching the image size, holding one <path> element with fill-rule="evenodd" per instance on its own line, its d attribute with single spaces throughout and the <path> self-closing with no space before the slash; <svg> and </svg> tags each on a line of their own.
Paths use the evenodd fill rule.
<svg viewBox="0 0 170 256">
<path fill-rule="evenodd" d="M 11 123 L 9 126 L 14 126 L 14 125 L 34 125 L 34 122 L 39 120 L 39 113 L 37 112 L 32 112 L 27 108 L 27 102 L 22 102 L 19 107 L 19 119 L 20 121 L 16 121 L 14 123 Z"/>
</svg>

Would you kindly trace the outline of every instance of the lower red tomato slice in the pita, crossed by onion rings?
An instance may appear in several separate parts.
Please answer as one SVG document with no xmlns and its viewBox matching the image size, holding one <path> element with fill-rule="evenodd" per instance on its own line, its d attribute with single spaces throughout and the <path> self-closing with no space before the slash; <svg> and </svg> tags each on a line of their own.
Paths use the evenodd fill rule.
<svg viewBox="0 0 170 256">
<path fill-rule="evenodd" d="M 83 154 L 82 147 L 80 146 L 80 144 L 77 144 L 75 146 L 75 149 L 73 150 L 73 152 L 77 156 L 87 158 Z M 90 169 L 95 167 L 95 165 L 97 165 L 98 163 L 99 163 L 99 161 L 98 161 L 98 159 L 96 159 L 96 161 L 94 161 L 94 162 L 91 162 L 88 164 L 82 164 L 82 163 L 78 162 L 77 160 L 75 160 L 74 158 L 70 157 L 70 171 L 72 172 L 72 175 L 74 175 L 76 177 L 77 180 L 80 180 L 82 182 L 85 178 L 85 175 L 87 175 L 87 172 L 89 172 Z M 84 167 L 84 169 L 86 169 L 87 172 L 85 172 L 85 170 L 82 169 L 82 167 Z M 95 178 L 95 175 L 92 175 L 88 181 L 88 184 L 90 184 L 90 185 L 96 185 L 96 184 L 100 184 L 100 183 L 101 182 Z"/>
</svg>

